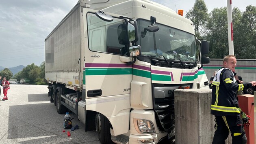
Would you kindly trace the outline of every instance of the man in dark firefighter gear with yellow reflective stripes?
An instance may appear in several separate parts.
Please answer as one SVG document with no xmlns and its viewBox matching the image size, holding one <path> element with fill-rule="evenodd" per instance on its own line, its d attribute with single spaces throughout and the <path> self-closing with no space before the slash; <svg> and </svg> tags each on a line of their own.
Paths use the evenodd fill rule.
<svg viewBox="0 0 256 144">
<path fill-rule="evenodd" d="M 217 70 L 212 83 L 211 114 L 215 115 L 215 133 L 213 144 L 225 144 L 229 131 L 232 144 L 246 144 L 243 127 L 249 126 L 249 116 L 239 108 L 237 91 L 254 86 L 255 81 L 236 84 L 234 69 L 236 58 L 228 55 L 223 59 L 223 67 Z"/>
</svg>

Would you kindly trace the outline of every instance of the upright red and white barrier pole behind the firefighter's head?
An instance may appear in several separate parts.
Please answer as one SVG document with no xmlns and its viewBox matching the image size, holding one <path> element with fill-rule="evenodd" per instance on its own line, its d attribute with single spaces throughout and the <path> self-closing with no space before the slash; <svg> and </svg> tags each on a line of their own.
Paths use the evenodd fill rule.
<svg viewBox="0 0 256 144">
<path fill-rule="evenodd" d="M 227 0 L 227 10 L 228 10 L 228 52 L 229 52 L 229 55 L 234 55 L 232 0 Z"/>
</svg>

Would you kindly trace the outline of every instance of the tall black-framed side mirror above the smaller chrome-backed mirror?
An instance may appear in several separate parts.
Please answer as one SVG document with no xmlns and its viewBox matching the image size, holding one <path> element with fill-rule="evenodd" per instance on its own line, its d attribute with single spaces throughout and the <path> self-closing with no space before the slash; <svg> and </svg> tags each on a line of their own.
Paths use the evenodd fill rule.
<svg viewBox="0 0 256 144">
<path fill-rule="evenodd" d="M 138 40 L 137 21 L 128 21 L 127 32 L 128 32 L 129 42 L 131 43 L 137 42 Z"/>
</svg>

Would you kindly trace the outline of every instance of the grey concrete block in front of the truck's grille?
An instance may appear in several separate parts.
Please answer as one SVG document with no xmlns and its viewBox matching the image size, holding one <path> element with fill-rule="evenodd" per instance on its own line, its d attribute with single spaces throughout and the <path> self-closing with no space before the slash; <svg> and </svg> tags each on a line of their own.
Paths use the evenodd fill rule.
<svg viewBox="0 0 256 144">
<path fill-rule="evenodd" d="M 176 144 L 211 144 L 215 131 L 211 89 L 177 89 L 174 93 Z M 231 142 L 229 136 L 226 144 Z"/>
</svg>

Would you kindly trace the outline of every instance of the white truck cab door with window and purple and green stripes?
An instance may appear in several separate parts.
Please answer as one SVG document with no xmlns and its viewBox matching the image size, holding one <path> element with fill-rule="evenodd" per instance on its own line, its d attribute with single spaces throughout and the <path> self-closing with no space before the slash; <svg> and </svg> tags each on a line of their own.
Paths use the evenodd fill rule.
<svg viewBox="0 0 256 144">
<path fill-rule="evenodd" d="M 130 59 L 127 20 L 108 13 L 113 21 L 105 21 L 95 12 L 83 8 L 86 110 L 106 116 L 118 135 L 128 132 L 130 120 L 132 65 L 122 62 Z"/>
</svg>

